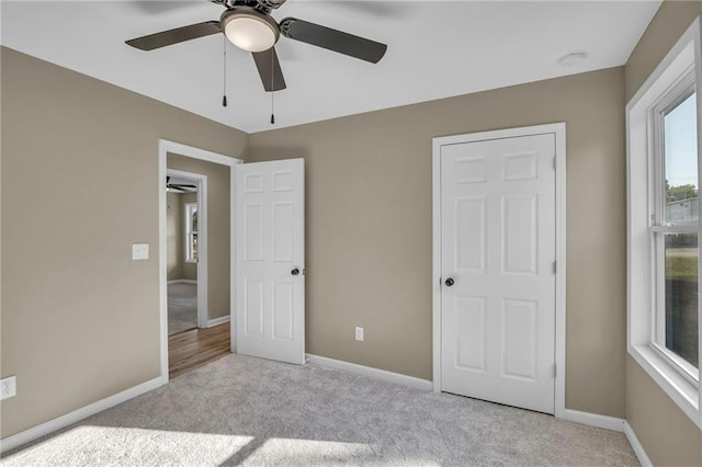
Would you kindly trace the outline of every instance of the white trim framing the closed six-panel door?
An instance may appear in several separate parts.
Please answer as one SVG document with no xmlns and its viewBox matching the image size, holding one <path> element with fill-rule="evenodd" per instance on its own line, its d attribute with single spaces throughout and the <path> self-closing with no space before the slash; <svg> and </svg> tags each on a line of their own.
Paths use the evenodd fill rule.
<svg viewBox="0 0 702 467">
<path fill-rule="evenodd" d="M 556 324 L 555 324 L 555 400 L 556 418 L 565 418 L 566 388 L 566 124 L 506 128 L 492 132 L 442 136 L 432 140 L 432 373 L 433 390 L 441 391 L 441 147 L 462 143 L 520 136 L 554 134 L 556 164 Z"/>
</svg>

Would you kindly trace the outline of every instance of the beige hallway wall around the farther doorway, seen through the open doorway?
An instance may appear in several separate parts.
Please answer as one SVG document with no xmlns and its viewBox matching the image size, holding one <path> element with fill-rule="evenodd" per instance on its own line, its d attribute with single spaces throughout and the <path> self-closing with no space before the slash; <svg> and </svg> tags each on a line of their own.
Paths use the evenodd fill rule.
<svg viewBox="0 0 702 467">
<path fill-rule="evenodd" d="M 207 176 L 207 308 L 208 319 L 229 315 L 229 167 L 168 155 L 168 168 Z M 195 264 L 183 263 L 184 278 Z"/>
</svg>

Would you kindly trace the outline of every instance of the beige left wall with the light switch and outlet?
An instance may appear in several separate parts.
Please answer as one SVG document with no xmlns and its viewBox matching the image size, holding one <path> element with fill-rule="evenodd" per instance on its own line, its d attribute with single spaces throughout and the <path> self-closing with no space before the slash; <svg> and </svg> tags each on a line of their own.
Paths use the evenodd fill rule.
<svg viewBox="0 0 702 467">
<path fill-rule="evenodd" d="M 241 157 L 247 135 L 1 55 L 5 437 L 159 376 L 158 140 Z"/>
</svg>

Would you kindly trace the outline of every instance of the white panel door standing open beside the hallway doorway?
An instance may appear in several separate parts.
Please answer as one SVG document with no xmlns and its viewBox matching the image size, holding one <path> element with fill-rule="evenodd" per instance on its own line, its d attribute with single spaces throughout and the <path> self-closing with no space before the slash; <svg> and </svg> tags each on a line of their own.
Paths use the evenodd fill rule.
<svg viewBox="0 0 702 467">
<path fill-rule="evenodd" d="M 237 352 L 305 363 L 305 161 L 236 168 Z"/>
</svg>

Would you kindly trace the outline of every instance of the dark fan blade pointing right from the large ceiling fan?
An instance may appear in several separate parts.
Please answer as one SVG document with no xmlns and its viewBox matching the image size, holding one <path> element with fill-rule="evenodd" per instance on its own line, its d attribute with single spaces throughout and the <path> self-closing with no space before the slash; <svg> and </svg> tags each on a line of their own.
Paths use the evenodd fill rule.
<svg viewBox="0 0 702 467">
<path fill-rule="evenodd" d="M 385 55 L 385 50 L 387 50 L 387 45 L 380 42 L 295 18 L 284 19 L 281 21 L 280 27 L 281 34 L 285 37 L 360 58 L 372 64 L 377 64 Z"/>
</svg>

